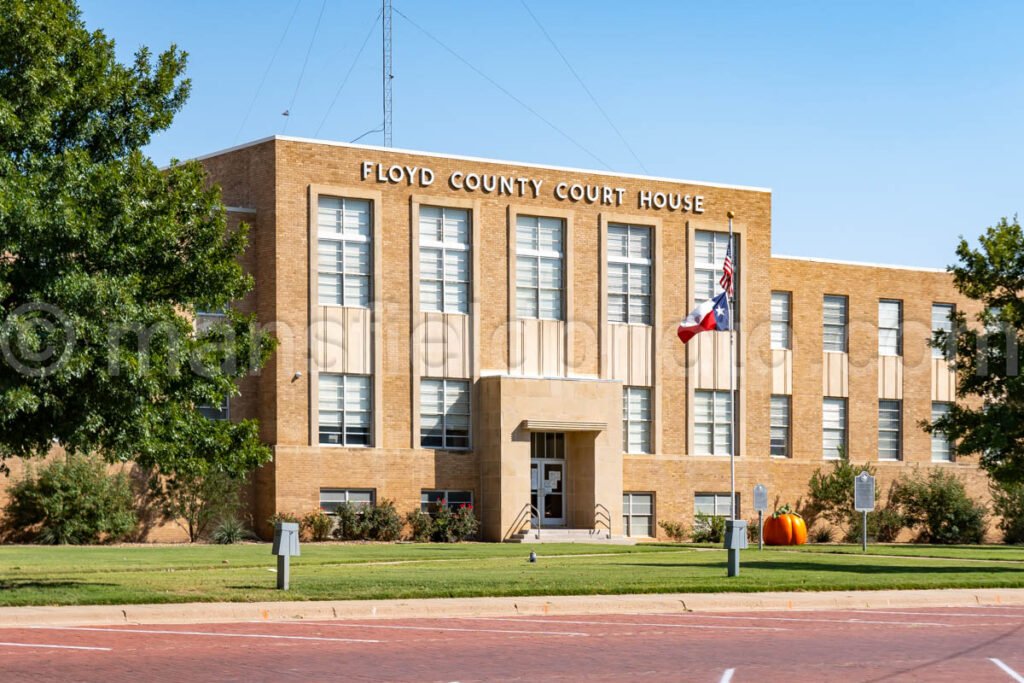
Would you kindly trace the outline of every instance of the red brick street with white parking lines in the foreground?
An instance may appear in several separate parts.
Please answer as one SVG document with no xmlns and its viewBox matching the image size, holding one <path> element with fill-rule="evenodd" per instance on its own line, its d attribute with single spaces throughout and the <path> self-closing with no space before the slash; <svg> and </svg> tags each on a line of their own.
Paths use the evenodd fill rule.
<svg viewBox="0 0 1024 683">
<path fill-rule="evenodd" d="M 2 681 L 1024 682 L 1024 607 L 0 629 Z"/>
</svg>

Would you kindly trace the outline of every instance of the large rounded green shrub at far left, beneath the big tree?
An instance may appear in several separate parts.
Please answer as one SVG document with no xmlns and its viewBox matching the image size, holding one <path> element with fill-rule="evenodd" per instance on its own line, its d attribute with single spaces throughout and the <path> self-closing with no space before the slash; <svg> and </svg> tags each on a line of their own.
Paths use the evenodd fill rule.
<svg viewBox="0 0 1024 683">
<path fill-rule="evenodd" d="M 3 525 L 14 541 L 48 545 L 123 539 L 135 528 L 124 473 L 108 474 L 98 458 L 69 456 L 33 468 L 10 487 Z"/>
</svg>

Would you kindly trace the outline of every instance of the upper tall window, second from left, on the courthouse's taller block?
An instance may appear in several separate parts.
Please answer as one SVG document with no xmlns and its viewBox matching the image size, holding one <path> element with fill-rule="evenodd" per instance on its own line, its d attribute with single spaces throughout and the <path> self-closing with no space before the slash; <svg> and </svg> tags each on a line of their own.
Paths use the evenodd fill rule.
<svg viewBox="0 0 1024 683">
<path fill-rule="evenodd" d="M 469 312 L 469 211 L 420 207 L 420 309 Z"/>
</svg>

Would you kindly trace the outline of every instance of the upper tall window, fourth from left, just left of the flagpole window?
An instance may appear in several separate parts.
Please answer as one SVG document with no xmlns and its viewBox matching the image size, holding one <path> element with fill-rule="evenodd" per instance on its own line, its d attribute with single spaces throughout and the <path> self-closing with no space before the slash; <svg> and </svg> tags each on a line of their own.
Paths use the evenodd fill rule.
<svg viewBox="0 0 1024 683">
<path fill-rule="evenodd" d="M 651 324 L 650 228 L 608 225 L 608 321 Z"/>
</svg>

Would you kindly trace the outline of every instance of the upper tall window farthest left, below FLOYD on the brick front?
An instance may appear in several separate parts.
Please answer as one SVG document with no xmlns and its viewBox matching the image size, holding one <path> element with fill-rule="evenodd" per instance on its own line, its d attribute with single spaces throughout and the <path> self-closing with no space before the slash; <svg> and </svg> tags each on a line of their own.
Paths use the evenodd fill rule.
<svg viewBox="0 0 1024 683">
<path fill-rule="evenodd" d="M 370 307 L 370 202 L 322 197 L 317 207 L 318 300 Z"/>
</svg>

